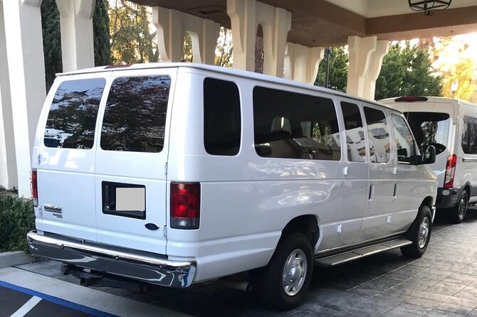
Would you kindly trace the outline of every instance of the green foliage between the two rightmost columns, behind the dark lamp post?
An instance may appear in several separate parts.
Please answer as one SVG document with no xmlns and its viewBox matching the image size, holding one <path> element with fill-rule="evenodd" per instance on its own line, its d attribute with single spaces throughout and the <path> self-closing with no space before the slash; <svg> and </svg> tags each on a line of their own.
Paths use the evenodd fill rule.
<svg viewBox="0 0 477 317">
<path fill-rule="evenodd" d="M 325 87 L 326 56 L 318 68 L 315 85 Z M 329 88 L 346 92 L 348 77 L 348 54 L 344 47 L 331 48 L 330 55 L 330 85 Z"/>
</svg>

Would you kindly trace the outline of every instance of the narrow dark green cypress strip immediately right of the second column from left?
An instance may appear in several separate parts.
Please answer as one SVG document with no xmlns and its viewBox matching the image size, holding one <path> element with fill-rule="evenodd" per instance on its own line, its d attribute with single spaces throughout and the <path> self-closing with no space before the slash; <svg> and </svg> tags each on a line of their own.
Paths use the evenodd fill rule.
<svg viewBox="0 0 477 317">
<path fill-rule="evenodd" d="M 108 0 L 96 0 L 93 15 L 93 41 L 95 45 L 95 66 L 111 64 L 110 16 Z"/>
</svg>

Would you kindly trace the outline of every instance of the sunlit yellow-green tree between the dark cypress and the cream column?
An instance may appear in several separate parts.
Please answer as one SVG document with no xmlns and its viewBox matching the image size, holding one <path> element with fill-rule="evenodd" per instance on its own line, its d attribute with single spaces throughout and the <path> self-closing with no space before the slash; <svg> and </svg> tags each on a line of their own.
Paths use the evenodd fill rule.
<svg viewBox="0 0 477 317">
<path fill-rule="evenodd" d="M 115 0 L 110 7 L 111 59 L 114 64 L 157 62 L 155 33 L 150 32 L 149 6 Z"/>
</svg>

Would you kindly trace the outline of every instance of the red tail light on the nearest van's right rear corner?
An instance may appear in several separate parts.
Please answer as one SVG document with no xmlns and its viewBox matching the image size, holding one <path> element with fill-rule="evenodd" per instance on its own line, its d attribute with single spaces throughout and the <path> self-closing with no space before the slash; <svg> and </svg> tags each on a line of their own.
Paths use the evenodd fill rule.
<svg viewBox="0 0 477 317">
<path fill-rule="evenodd" d="M 171 183 L 171 227 L 199 228 L 200 183 Z"/>
</svg>

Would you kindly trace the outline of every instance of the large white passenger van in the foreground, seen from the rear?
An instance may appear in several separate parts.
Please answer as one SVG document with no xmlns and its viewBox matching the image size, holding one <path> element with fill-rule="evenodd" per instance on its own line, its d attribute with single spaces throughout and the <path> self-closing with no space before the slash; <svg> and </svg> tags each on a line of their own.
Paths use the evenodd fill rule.
<svg viewBox="0 0 477 317">
<path fill-rule="evenodd" d="M 287 309 L 314 264 L 426 251 L 433 149 L 421 156 L 397 110 L 276 77 L 189 63 L 68 72 L 38 123 L 29 247 L 85 285 L 250 272 L 243 288 Z"/>
</svg>

